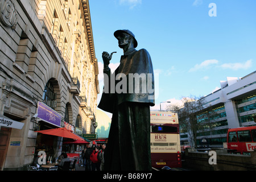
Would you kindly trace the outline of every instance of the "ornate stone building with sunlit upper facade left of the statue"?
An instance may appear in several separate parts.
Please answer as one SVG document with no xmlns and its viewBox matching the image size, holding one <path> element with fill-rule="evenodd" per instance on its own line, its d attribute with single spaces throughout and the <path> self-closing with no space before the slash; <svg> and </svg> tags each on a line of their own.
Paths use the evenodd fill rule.
<svg viewBox="0 0 256 182">
<path fill-rule="evenodd" d="M 98 87 L 88 0 L 0 1 L 0 170 L 24 169 L 61 137 L 94 133 Z"/>
</svg>

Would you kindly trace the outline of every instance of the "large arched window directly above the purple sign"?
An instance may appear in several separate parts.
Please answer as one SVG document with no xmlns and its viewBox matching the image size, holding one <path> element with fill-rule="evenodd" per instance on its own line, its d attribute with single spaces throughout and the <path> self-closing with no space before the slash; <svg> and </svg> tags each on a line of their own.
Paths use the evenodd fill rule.
<svg viewBox="0 0 256 182">
<path fill-rule="evenodd" d="M 56 93 L 54 93 L 52 82 L 49 80 L 44 88 L 43 93 L 43 103 L 47 106 L 55 109 L 57 106 L 56 100 Z"/>
</svg>

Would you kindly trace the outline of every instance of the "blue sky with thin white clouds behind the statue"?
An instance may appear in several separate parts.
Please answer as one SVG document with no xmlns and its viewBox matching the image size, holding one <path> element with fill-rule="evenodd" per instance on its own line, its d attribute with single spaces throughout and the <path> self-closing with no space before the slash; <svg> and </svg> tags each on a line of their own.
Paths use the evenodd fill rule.
<svg viewBox="0 0 256 182">
<path fill-rule="evenodd" d="M 216 5 L 217 16 L 209 16 L 210 3 Z M 132 31 L 137 49 L 151 55 L 159 75 L 152 109 L 163 101 L 206 96 L 226 77 L 256 70 L 255 0 L 89 0 L 89 6 L 101 92 L 102 52 L 117 51 L 110 61 L 112 71 L 123 54 L 113 35 L 119 29 Z"/>
</svg>

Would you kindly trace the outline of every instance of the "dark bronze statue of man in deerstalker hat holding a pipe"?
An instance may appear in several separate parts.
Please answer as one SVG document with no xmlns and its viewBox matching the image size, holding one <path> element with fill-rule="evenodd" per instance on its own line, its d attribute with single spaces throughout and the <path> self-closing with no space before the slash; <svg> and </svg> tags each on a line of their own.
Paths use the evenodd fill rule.
<svg viewBox="0 0 256 182">
<path fill-rule="evenodd" d="M 102 53 L 104 92 L 98 107 L 113 113 L 105 150 L 104 170 L 151 170 L 150 106 L 154 100 L 154 72 L 146 49 L 129 30 L 114 32 L 123 49 L 119 67 L 113 74 L 112 54 Z"/>
</svg>

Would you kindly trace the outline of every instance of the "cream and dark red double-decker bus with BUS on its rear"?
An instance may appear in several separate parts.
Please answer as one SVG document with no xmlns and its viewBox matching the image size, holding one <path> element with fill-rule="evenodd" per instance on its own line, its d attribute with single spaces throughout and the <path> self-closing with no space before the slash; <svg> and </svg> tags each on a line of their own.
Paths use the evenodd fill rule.
<svg viewBox="0 0 256 182">
<path fill-rule="evenodd" d="M 180 133 L 177 113 L 151 111 L 150 130 L 152 167 L 180 168 Z"/>
</svg>

